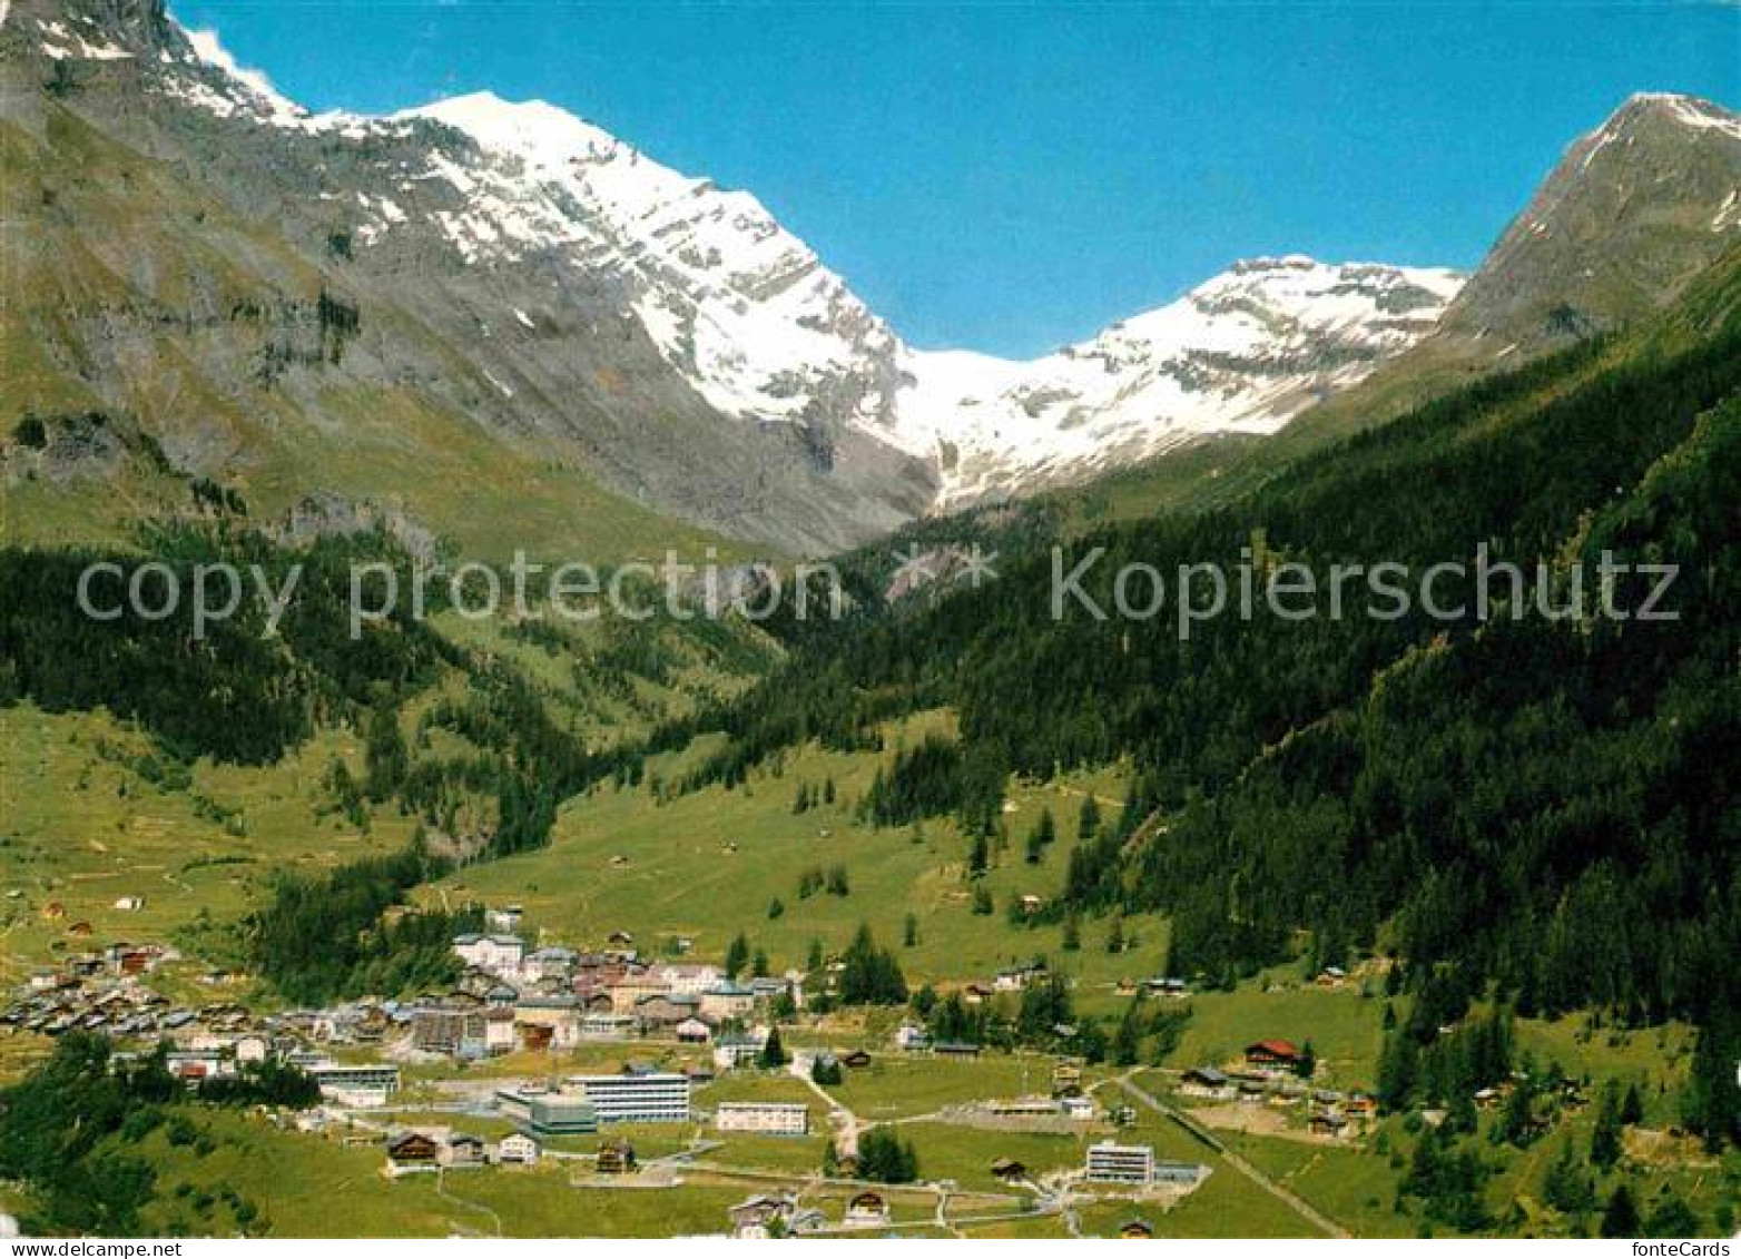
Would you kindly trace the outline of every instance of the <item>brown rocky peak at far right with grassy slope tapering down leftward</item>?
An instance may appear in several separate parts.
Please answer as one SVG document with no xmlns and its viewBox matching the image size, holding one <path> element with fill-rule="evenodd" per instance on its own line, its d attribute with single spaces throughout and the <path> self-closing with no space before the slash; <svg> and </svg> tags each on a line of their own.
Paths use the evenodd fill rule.
<svg viewBox="0 0 1741 1259">
<path fill-rule="evenodd" d="M 1438 326 L 1273 437 L 1198 442 L 1100 486 L 1121 514 L 1203 507 L 1494 369 L 1670 306 L 1741 240 L 1741 115 L 1642 92 L 1570 145 Z"/>
</svg>

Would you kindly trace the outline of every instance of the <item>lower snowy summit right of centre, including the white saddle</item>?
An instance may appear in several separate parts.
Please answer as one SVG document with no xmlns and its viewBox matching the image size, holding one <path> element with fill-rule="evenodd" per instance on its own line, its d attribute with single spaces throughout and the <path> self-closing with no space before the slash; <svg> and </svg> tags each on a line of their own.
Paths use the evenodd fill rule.
<svg viewBox="0 0 1741 1259">
<path fill-rule="evenodd" d="M 1081 479 L 1208 434 L 1271 434 L 1426 334 L 1461 277 L 1436 268 L 1234 263 L 1186 296 L 1031 362 L 907 357 L 911 449 L 944 503 Z"/>
</svg>

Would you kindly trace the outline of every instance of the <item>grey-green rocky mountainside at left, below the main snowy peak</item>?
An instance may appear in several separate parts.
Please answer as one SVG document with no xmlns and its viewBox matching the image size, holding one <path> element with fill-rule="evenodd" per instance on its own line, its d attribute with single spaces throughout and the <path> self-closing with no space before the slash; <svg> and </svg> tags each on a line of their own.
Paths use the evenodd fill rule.
<svg viewBox="0 0 1741 1259">
<path fill-rule="evenodd" d="M 331 491 L 498 550 L 663 547 L 670 517 L 830 550 L 935 500 L 825 373 L 794 423 L 724 416 L 674 369 L 653 277 L 707 266 L 703 237 L 674 242 L 682 205 L 635 237 L 653 228 L 608 186 L 581 205 L 439 117 L 315 118 L 214 57 L 148 0 L 10 7 L 10 416 L 101 411 L 256 514 Z M 776 232 L 747 216 L 703 212 L 743 242 Z M 724 279 L 721 308 L 742 301 Z M 712 317 L 684 343 L 707 353 Z"/>
</svg>

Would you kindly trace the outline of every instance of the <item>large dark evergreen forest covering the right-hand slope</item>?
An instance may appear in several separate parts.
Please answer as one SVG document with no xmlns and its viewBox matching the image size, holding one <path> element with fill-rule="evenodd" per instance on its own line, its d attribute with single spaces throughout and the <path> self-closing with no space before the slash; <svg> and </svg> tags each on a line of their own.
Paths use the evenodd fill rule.
<svg viewBox="0 0 1741 1259">
<path fill-rule="evenodd" d="M 984 590 L 851 623 L 714 714 L 733 745 L 693 782 L 951 705 L 959 742 L 897 751 L 864 810 L 982 831 L 985 784 L 1128 756 L 1132 805 L 1072 853 L 1067 907 L 1166 911 L 1175 965 L 1217 979 L 1304 928 L 1323 961 L 1389 951 L 1417 984 L 1449 968 L 1523 1013 L 1692 1019 L 1711 1094 L 1696 1123 L 1741 1139 L 1710 1066 L 1741 1055 L 1738 301 L 1731 258 L 1661 326 L 1449 395 L 1247 502 L 1067 542 L 1057 569 L 1027 552 Z M 1482 618 L 1478 547 L 1546 580 L 1492 582 Z M 1334 564 L 1466 569 L 1436 589 L 1449 618 L 1259 604 L 1184 637 L 1172 604 L 1055 618 L 1055 571 L 1097 550 L 1081 587 L 1102 608 L 1126 562 L 1168 580 L 1247 562 L 1260 582 L 1304 564 L 1320 590 Z M 1605 552 L 1678 566 L 1675 620 L 1553 616 L 1579 582 L 1598 606 Z M 1637 611 L 1656 583 L 1619 576 L 1612 604 Z"/>
</svg>

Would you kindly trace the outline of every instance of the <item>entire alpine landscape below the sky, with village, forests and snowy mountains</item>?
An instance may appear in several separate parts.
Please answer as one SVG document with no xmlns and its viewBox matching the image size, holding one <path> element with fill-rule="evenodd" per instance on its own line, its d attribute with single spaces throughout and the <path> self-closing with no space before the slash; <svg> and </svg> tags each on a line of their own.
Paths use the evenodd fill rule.
<svg viewBox="0 0 1741 1259">
<path fill-rule="evenodd" d="M 550 104 L 0 0 L 0 1236 L 1732 1235 L 1741 117 L 1569 139 L 1469 275 L 1024 362 Z M 843 615 L 355 616 L 667 549 Z M 1381 559 L 1537 585 L 1095 615 Z"/>
</svg>

